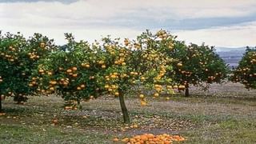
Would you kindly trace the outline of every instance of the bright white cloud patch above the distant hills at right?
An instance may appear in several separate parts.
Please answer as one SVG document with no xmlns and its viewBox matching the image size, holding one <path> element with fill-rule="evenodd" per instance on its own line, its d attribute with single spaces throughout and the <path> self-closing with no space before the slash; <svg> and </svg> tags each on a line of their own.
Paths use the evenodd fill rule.
<svg viewBox="0 0 256 144">
<path fill-rule="evenodd" d="M 256 22 L 244 23 L 241 26 L 215 27 L 204 30 L 178 31 L 178 39 L 187 43 L 193 42 L 210 46 L 256 46 Z"/>
</svg>

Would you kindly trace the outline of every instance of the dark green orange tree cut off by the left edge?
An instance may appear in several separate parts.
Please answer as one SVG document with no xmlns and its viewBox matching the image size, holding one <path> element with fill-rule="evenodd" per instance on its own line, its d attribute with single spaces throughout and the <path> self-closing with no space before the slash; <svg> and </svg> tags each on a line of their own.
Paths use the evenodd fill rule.
<svg viewBox="0 0 256 144">
<path fill-rule="evenodd" d="M 0 110 L 2 100 L 6 96 L 13 96 L 14 91 L 20 90 L 22 73 L 20 70 L 19 57 L 23 46 L 26 46 L 26 39 L 21 34 L 0 35 Z"/>
</svg>

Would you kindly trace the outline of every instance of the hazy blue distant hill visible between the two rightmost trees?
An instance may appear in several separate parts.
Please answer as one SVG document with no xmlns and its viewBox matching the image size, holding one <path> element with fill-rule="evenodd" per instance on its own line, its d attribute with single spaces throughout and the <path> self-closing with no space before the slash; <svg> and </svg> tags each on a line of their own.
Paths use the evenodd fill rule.
<svg viewBox="0 0 256 144">
<path fill-rule="evenodd" d="M 242 55 L 246 52 L 246 47 L 228 48 L 228 47 L 216 47 L 218 55 L 230 66 L 238 66 L 238 62 L 241 60 Z"/>
</svg>

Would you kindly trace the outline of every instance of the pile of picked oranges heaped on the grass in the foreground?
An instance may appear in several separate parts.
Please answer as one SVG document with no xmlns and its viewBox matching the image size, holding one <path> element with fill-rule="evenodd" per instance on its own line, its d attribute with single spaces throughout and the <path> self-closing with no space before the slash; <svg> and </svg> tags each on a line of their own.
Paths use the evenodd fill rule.
<svg viewBox="0 0 256 144">
<path fill-rule="evenodd" d="M 118 138 L 113 138 L 114 142 L 119 142 Z M 172 142 L 182 142 L 185 138 L 179 135 L 170 134 L 142 134 L 136 135 L 132 138 L 123 138 L 121 142 L 126 142 L 126 144 L 171 144 Z"/>
</svg>

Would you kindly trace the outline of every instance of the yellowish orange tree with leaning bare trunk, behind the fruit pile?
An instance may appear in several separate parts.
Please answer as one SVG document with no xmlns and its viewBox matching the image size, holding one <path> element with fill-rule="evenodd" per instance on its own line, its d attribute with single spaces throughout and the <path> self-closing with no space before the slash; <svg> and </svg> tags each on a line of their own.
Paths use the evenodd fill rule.
<svg viewBox="0 0 256 144">
<path fill-rule="evenodd" d="M 171 42 L 171 39 L 166 43 Z M 157 34 L 151 34 L 149 30 L 134 41 L 125 39 L 121 44 L 111 41 L 110 38 L 104 38 L 103 41 L 108 65 L 102 82 L 110 94 L 118 96 L 124 122 L 129 123 L 124 101 L 124 96 L 128 96 L 127 91 L 138 90 L 140 87 L 154 88 L 154 97 L 158 97 L 158 92 L 162 91 L 162 83 L 168 80 L 165 75 L 167 70 L 171 70 L 171 66 L 168 66 L 171 61 L 162 53 L 166 49 L 162 45 L 162 39 Z M 169 90 L 172 90 L 170 86 Z M 142 106 L 146 106 L 145 95 L 139 94 Z"/>
</svg>

